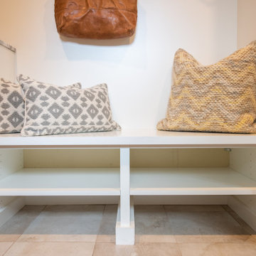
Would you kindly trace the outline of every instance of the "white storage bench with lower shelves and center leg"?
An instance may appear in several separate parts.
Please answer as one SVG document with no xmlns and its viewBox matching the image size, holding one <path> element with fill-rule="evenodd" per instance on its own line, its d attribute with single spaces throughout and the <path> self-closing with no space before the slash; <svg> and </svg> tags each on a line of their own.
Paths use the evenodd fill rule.
<svg viewBox="0 0 256 256">
<path fill-rule="evenodd" d="M 119 196 L 116 242 L 134 243 L 131 196 L 255 195 L 256 181 L 228 168 L 132 169 L 134 148 L 250 148 L 255 134 L 123 130 L 43 137 L 0 135 L 0 196 Z M 23 149 L 119 149 L 120 168 L 23 169 Z M 111 178 L 110 178 L 111 177 Z"/>
</svg>

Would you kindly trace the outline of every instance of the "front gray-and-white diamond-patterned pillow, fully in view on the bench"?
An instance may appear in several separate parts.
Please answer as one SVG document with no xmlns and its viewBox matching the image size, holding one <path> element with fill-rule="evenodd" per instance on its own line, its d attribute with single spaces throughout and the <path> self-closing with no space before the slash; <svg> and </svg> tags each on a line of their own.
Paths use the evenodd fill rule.
<svg viewBox="0 0 256 256">
<path fill-rule="evenodd" d="M 22 136 L 120 129 L 112 120 L 107 85 L 87 89 L 31 85 L 26 90 Z"/>
</svg>

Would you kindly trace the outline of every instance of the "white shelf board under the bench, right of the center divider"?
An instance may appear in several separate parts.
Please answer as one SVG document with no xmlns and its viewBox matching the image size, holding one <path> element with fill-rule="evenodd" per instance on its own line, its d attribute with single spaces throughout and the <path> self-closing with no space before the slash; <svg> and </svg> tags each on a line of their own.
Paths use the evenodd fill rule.
<svg viewBox="0 0 256 256">
<path fill-rule="evenodd" d="M 131 195 L 255 195 L 256 181 L 230 168 L 132 169 Z"/>
</svg>

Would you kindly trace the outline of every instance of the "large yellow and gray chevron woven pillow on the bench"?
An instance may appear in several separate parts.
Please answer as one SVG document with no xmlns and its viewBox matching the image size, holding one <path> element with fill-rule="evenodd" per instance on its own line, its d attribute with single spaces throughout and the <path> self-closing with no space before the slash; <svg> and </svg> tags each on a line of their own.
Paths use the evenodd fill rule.
<svg viewBox="0 0 256 256">
<path fill-rule="evenodd" d="M 256 41 L 213 65 L 179 49 L 159 130 L 256 133 Z"/>
</svg>

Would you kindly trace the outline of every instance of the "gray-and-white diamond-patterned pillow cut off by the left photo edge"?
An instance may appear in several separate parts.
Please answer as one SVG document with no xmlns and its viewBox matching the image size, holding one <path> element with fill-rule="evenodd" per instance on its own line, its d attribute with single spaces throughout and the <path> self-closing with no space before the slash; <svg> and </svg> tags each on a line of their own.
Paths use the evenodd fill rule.
<svg viewBox="0 0 256 256">
<path fill-rule="evenodd" d="M 24 100 L 21 86 L 0 79 L 0 134 L 21 132 Z"/>
</svg>

